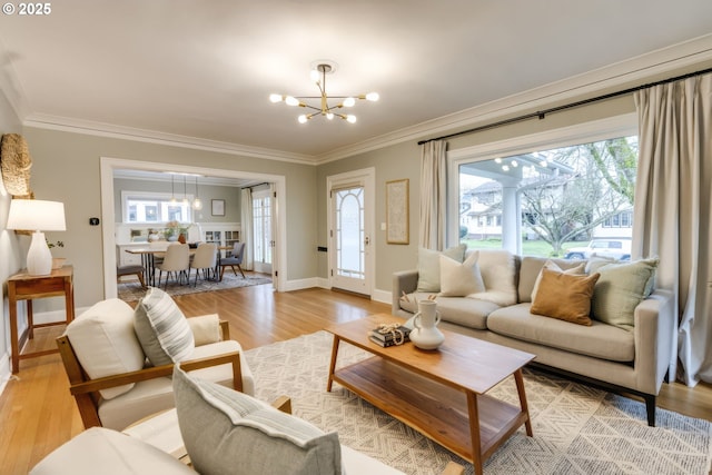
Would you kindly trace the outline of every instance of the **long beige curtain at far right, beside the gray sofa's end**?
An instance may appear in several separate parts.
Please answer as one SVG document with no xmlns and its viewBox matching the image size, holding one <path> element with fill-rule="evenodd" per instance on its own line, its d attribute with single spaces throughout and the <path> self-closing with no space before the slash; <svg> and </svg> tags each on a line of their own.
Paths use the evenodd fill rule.
<svg viewBox="0 0 712 475">
<path fill-rule="evenodd" d="M 657 286 L 675 295 L 671 379 L 712 383 L 712 75 L 634 98 L 640 157 L 633 255 L 657 255 Z"/>
</svg>

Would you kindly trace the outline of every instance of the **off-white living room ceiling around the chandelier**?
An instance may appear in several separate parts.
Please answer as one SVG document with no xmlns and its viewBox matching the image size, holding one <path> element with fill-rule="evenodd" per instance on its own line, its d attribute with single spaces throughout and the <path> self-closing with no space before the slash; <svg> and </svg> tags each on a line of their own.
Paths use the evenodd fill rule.
<svg viewBox="0 0 712 475">
<path fill-rule="evenodd" d="M 0 87 L 24 123 L 314 160 L 712 33 L 710 0 L 61 0 L 0 14 Z M 710 41 L 708 41 L 708 44 Z M 378 91 L 356 125 L 270 103 Z M 411 133 L 412 135 L 412 133 Z M 423 138 L 423 137 L 417 137 Z"/>
</svg>

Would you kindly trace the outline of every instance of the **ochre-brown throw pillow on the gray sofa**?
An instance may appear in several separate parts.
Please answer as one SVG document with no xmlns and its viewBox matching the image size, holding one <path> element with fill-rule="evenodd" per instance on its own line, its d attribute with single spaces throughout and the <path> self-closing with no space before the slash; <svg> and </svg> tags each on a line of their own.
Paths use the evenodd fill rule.
<svg viewBox="0 0 712 475">
<path fill-rule="evenodd" d="M 542 269 L 532 314 L 591 326 L 591 297 L 600 274 L 573 276 Z"/>
</svg>

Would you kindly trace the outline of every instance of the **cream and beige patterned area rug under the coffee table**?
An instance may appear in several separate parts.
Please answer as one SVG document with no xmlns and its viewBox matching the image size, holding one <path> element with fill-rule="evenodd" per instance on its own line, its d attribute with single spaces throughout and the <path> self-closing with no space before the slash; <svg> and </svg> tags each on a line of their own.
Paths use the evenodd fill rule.
<svg viewBox="0 0 712 475">
<path fill-rule="evenodd" d="M 342 386 L 327 393 L 332 343 L 330 334 L 317 331 L 246 352 L 257 397 L 291 397 L 295 415 L 406 474 L 439 474 L 448 461 L 473 473 Z M 342 344 L 338 366 L 368 356 Z M 520 428 L 486 462 L 485 474 L 709 474 L 711 422 L 659 408 L 657 427 L 649 427 L 643 403 L 535 370 L 525 369 L 524 379 L 534 437 Z M 518 400 L 512 378 L 488 394 Z"/>
</svg>

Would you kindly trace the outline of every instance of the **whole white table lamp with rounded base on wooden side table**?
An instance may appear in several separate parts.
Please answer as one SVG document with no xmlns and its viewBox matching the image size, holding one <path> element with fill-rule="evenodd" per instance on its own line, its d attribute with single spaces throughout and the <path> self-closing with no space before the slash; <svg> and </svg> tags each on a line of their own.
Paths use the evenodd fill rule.
<svg viewBox="0 0 712 475">
<path fill-rule="evenodd" d="M 31 276 L 47 276 L 52 271 L 52 255 L 42 231 L 63 231 L 65 204 L 40 199 L 10 201 L 8 229 L 32 230 L 32 243 L 27 253 L 27 270 Z"/>
</svg>

